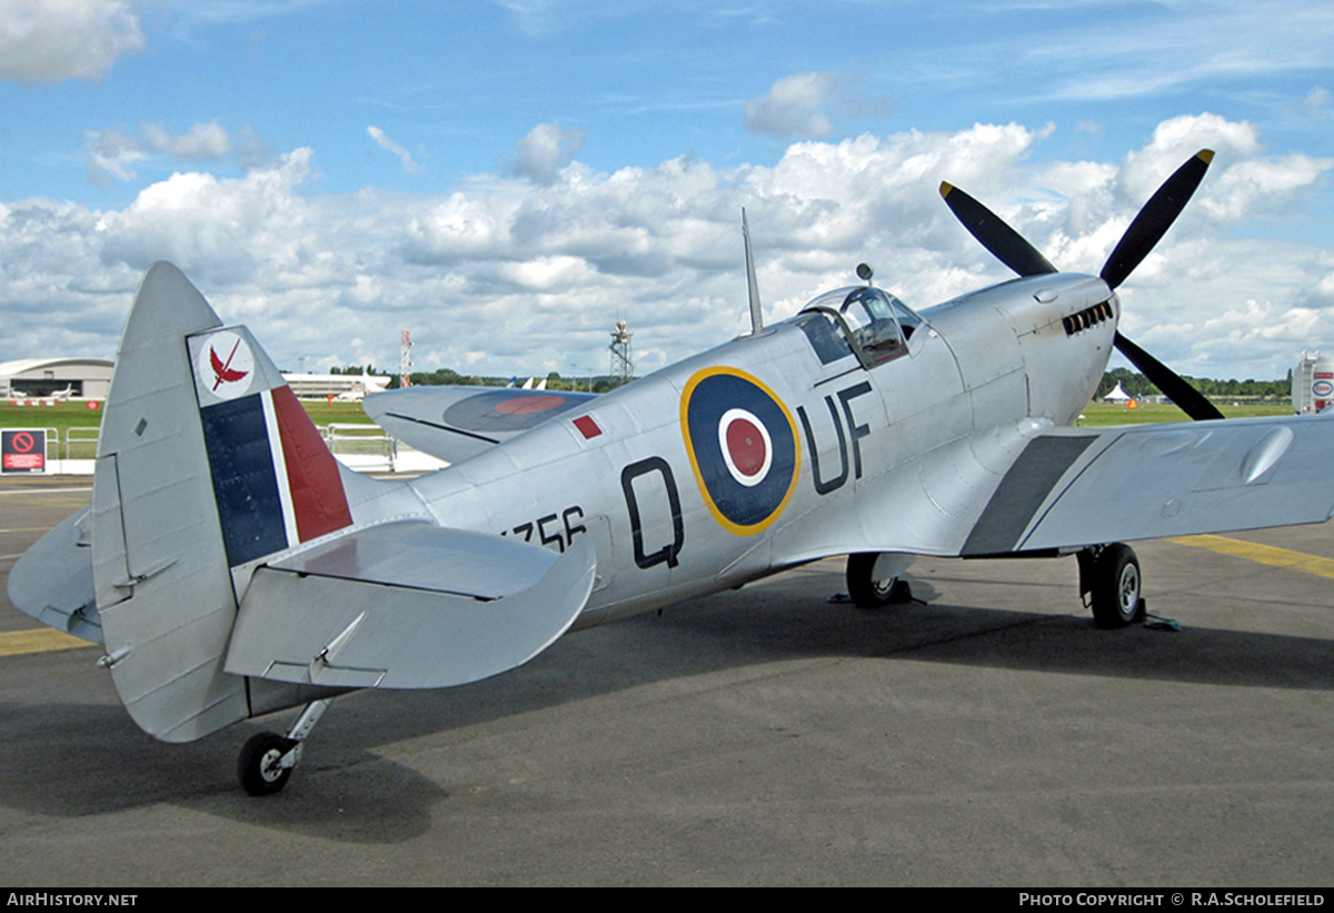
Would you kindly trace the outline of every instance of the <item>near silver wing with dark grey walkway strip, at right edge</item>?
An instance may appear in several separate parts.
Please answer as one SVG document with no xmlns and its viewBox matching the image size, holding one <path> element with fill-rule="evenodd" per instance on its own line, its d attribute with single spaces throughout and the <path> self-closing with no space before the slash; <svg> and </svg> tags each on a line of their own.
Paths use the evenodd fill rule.
<svg viewBox="0 0 1334 913">
<path fill-rule="evenodd" d="M 1322 523 L 1331 459 L 1327 415 L 1054 428 L 1019 452 L 962 554 Z"/>
</svg>

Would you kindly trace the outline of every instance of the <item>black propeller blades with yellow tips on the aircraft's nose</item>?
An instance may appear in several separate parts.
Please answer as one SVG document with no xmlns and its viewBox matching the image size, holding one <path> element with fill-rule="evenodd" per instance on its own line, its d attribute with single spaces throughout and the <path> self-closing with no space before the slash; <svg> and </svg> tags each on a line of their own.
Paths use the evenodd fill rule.
<svg viewBox="0 0 1334 913">
<path fill-rule="evenodd" d="M 1177 220 L 1186 202 L 1190 199 L 1199 182 L 1205 179 L 1209 163 L 1213 162 L 1213 149 L 1201 149 L 1181 168 L 1173 174 L 1162 187 L 1158 188 L 1139 215 L 1135 216 L 1126 234 L 1121 236 L 1107 263 L 1099 274 L 1111 288 L 1117 288 L 1126 280 L 1137 266 L 1139 266 L 1154 246 L 1167 234 L 1171 223 Z M 1007 226 L 1000 216 L 987 207 L 960 191 L 958 187 L 940 184 L 940 196 L 946 206 L 958 216 L 963 227 L 976 238 L 983 247 L 995 255 L 998 260 L 1018 272 L 1021 276 L 1037 276 L 1046 272 L 1057 272 L 1051 266 L 1019 232 Z M 1195 420 L 1221 419 L 1223 414 L 1205 396 L 1186 383 L 1186 379 L 1169 368 L 1157 358 L 1133 343 L 1118 331 L 1115 335 L 1117 350 L 1125 355 L 1131 364 L 1139 368 L 1149 380 L 1163 391 L 1186 415 Z"/>
</svg>

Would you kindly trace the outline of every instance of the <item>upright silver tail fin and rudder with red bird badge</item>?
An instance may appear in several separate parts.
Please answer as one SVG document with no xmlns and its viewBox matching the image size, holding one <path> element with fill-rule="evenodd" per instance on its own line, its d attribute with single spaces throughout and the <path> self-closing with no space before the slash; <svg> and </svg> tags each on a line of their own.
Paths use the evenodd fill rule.
<svg viewBox="0 0 1334 913">
<path fill-rule="evenodd" d="M 93 477 L 105 663 L 145 731 L 189 741 L 249 715 L 223 671 L 236 582 L 352 523 L 339 467 L 264 351 L 155 263 L 125 322 Z"/>
</svg>

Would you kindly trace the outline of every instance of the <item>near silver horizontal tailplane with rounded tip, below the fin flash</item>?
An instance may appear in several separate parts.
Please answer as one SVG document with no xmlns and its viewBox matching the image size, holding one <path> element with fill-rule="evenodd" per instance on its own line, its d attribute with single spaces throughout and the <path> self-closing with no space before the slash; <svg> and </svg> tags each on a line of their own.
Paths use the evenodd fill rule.
<svg viewBox="0 0 1334 913">
<path fill-rule="evenodd" d="M 448 687 L 550 646 L 592 591 L 596 555 L 399 522 L 259 569 L 227 671 L 323 687 Z"/>
</svg>

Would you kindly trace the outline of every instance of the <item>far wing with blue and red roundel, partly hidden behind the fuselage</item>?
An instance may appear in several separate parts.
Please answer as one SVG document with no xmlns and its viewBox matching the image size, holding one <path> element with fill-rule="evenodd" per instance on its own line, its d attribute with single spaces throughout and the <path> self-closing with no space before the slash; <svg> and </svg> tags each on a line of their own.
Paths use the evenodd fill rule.
<svg viewBox="0 0 1334 913">
<path fill-rule="evenodd" d="M 362 408 L 399 440 L 456 463 L 594 398 L 515 387 L 407 387 L 371 394 Z"/>
</svg>

